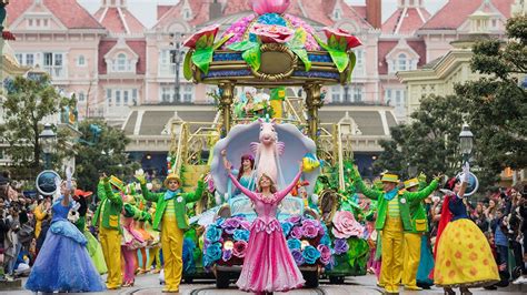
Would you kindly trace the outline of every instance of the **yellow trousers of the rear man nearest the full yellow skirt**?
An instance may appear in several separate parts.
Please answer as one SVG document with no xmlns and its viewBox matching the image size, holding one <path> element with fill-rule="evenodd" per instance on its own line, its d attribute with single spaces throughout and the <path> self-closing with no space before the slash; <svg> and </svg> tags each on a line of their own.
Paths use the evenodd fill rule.
<svg viewBox="0 0 527 295">
<path fill-rule="evenodd" d="M 407 287 L 417 286 L 417 268 L 421 256 L 422 234 L 405 233 L 405 264 L 402 265 L 402 284 Z"/>
</svg>

